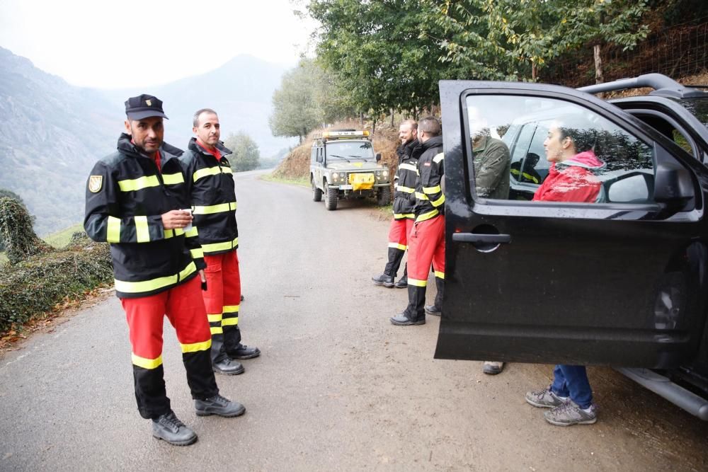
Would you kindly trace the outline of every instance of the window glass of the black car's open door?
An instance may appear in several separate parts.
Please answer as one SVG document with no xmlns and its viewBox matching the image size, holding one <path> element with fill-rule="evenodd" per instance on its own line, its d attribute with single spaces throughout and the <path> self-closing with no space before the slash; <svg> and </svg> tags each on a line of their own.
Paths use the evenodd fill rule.
<svg viewBox="0 0 708 472">
<path fill-rule="evenodd" d="M 653 202 L 653 148 L 605 117 L 554 98 L 467 97 L 473 197 Z"/>
</svg>

